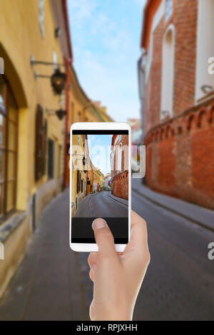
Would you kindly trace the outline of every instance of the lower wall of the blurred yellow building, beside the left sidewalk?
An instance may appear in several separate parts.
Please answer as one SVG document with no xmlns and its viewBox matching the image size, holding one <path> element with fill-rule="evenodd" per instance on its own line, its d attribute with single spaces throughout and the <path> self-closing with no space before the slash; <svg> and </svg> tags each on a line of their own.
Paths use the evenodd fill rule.
<svg viewBox="0 0 214 335">
<path fill-rule="evenodd" d="M 42 210 L 61 192 L 59 183 L 60 180 L 50 180 L 41 185 L 29 198 L 26 211 L 16 212 L 0 226 L 0 242 L 4 244 L 4 260 L 0 260 L 0 298 L 24 257 L 27 242 L 38 225 Z"/>
</svg>

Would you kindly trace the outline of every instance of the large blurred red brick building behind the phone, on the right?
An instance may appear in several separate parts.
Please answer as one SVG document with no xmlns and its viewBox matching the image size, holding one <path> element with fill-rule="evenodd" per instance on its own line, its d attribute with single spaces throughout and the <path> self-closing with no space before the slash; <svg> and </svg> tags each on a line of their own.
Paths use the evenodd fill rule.
<svg viewBox="0 0 214 335">
<path fill-rule="evenodd" d="M 138 78 L 146 183 L 214 209 L 213 0 L 148 0 Z"/>
</svg>

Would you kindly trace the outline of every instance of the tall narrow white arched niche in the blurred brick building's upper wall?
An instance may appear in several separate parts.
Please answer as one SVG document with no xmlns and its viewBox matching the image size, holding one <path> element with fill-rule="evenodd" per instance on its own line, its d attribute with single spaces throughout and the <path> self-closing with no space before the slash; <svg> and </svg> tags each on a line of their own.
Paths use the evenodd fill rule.
<svg viewBox="0 0 214 335">
<path fill-rule="evenodd" d="M 173 115 L 174 41 L 170 25 L 163 37 L 161 118 Z"/>
</svg>

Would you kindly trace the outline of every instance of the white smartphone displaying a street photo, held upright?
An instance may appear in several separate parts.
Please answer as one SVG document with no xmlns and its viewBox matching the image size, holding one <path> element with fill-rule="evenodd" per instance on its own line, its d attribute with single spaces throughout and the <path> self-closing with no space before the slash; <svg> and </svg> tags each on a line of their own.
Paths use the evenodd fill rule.
<svg viewBox="0 0 214 335">
<path fill-rule="evenodd" d="M 73 123 L 70 131 L 70 246 L 97 252 L 92 224 L 102 217 L 123 252 L 131 230 L 131 127 Z"/>
</svg>

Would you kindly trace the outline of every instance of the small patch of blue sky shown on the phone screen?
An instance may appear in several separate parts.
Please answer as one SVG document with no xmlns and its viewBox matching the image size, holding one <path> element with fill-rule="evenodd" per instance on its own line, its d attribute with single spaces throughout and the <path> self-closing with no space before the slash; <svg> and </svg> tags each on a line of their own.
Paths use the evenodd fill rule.
<svg viewBox="0 0 214 335">
<path fill-rule="evenodd" d="M 110 153 L 112 135 L 88 135 L 91 162 L 103 175 L 111 172 Z"/>
</svg>

